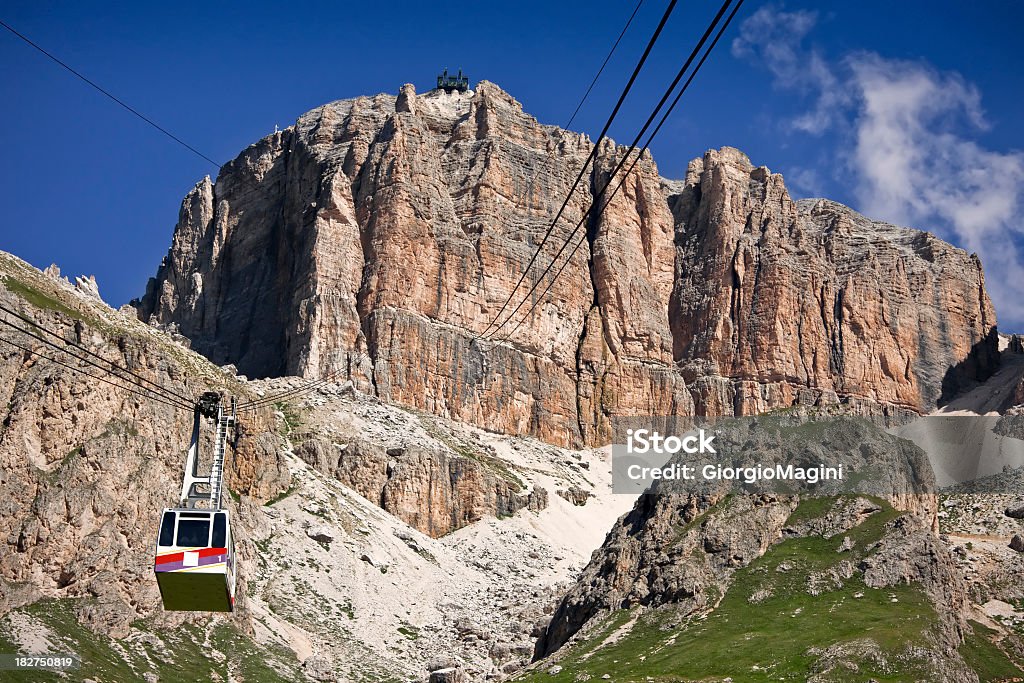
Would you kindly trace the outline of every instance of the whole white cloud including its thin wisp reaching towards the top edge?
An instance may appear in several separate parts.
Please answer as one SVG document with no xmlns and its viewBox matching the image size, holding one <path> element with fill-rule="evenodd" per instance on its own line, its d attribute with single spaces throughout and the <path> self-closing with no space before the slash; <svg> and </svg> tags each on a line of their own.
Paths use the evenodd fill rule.
<svg viewBox="0 0 1024 683">
<path fill-rule="evenodd" d="M 864 214 L 936 232 L 976 252 L 1004 327 L 1024 329 L 1024 154 L 971 139 L 987 128 L 981 93 L 959 75 L 873 52 L 829 62 L 802 46 L 811 12 L 763 7 L 733 54 L 765 66 L 774 84 L 813 97 L 792 129 L 835 130 Z M 1009 326 L 1008 326 L 1009 324 Z"/>
</svg>

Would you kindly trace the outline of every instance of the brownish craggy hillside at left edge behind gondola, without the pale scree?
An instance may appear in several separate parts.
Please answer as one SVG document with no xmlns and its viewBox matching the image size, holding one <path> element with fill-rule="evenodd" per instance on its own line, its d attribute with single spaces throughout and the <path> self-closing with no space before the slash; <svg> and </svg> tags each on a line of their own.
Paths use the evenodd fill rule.
<svg viewBox="0 0 1024 683">
<path fill-rule="evenodd" d="M 0 278 L 5 307 L 159 386 L 181 395 L 231 388 L 202 358 L 89 292 L 2 253 Z M 101 373 L 20 333 L 4 338 Z M 118 637 L 159 606 L 153 543 L 160 510 L 177 503 L 193 416 L 132 393 L 127 382 L 115 384 L 0 348 L 0 400 L 7 407 L 0 427 L 0 613 L 40 597 L 89 598 L 78 603 L 79 620 Z M 230 490 L 257 501 L 289 479 L 266 417 L 247 416 L 226 472 Z M 203 447 L 211 447 L 209 438 Z M 230 496 L 223 503 L 236 510 Z M 244 549 L 246 526 L 236 528 Z"/>
</svg>

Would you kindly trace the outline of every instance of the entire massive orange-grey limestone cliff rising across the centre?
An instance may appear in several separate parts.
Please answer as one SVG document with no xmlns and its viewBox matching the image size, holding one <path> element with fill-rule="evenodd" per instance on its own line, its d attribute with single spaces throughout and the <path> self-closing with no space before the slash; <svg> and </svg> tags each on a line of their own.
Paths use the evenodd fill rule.
<svg viewBox="0 0 1024 683">
<path fill-rule="evenodd" d="M 572 444 L 607 441 L 620 415 L 840 400 L 922 412 L 995 367 L 975 257 L 794 202 L 780 175 L 729 147 L 682 181 L 645 154 L 585 218 L 626 152 L 602 142 L 517 288 L 592 150 L 487 82 L 326 104 L 188 194 L 139 317 L 248 377 L 334 374 Z M 474 341 L 577 225 L 543 300 L 547 281 L 500 343 Z"/>
</svg>

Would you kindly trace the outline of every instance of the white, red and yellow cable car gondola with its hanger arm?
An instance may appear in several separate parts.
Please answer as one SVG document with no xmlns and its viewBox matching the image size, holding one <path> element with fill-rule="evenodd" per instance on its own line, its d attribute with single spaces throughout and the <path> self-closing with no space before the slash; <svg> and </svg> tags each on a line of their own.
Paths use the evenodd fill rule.
<svg viewBox="0 0 1024 683">
<path fill-rule="evenodd" d="M 208 476 L 198 474 L 203 417 L 213 419 L 217 425 Z M 196 405 L 179 507 L 164 510 L 157 538 L 154 570 L 164 609 L 234 610 L 234 544 L 228 513 L 220 509 L 224 453 L 234 420 L 233 398 L 230 413 L 224 411 L 220 394 L 215 392 L 204 393 Z M 207 507 L 199 507 L 202 503 Z"/>
</svg>

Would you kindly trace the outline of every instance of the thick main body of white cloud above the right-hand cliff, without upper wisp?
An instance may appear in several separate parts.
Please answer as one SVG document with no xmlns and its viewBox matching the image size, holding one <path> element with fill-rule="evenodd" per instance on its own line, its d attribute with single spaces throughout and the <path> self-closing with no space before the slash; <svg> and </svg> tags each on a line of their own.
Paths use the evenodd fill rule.
<svg viewBox="0 0 1024 683">
<path fill-rule="evenodd" d="M 860 99 L 851 163 L 861 210 L 976 252 L 999 316 L 1019 329 L 1024 154 L 966 137 L 986 124 L 978 90 L 955 74 L 877 54 L 852 57 L 849 68 Z"/>
</svg>

